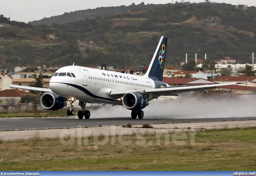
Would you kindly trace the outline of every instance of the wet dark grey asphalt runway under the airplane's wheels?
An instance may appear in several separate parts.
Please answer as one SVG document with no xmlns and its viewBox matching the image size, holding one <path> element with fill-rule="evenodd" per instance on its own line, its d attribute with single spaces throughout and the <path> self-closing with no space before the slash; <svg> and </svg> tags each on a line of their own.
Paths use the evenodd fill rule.
<svg viewBox="0 0 256 176">
<path fill-rule="evenodd" d="M 97 119 L 77 119 L 71 117 L 54 117 L 54 118 L 12 118 L 0 119 L 0 130 L 18 130 L 18 129 L 40 129 L 40 128 L 63 128 L 82 126 L 99 126 L 99 125 L 126 125 L 144 124 L 144 123 L 180 123 L 180 122 L 207 122 L 207 121 L 232 121 L 232 120 L 256 120 L 256 117 L 244 118 L 159 118 L 145 117 L 144 119 L 132 118 L 97 118 Z"/>
</svg>

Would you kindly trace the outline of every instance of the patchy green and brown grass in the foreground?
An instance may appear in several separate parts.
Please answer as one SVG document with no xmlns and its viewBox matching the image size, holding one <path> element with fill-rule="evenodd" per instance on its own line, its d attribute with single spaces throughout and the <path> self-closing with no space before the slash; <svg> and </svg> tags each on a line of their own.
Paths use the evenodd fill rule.
<svg viewBox="0 0 256 176">
<path fill-rule="evenodd" d="M 256 129 L 211 130 L 197 132 L 195 145 L 187 134 L 185 145 L 155 145 L 155 134 L 145 134 L 146 143 L 136 145 L 135 135 L 123 136 L 131 145 L 111 140 L 93 150 L 89 145 L 64 146 L 59 139 L 0 143 L 1 170 L 256 170 Z M 99 140 L 103 140 L 99 138 Z M 153 145 L 148 145 L 148 141 Z M 76 141 L 75 141 L 76 144 Z"/>
</svg>

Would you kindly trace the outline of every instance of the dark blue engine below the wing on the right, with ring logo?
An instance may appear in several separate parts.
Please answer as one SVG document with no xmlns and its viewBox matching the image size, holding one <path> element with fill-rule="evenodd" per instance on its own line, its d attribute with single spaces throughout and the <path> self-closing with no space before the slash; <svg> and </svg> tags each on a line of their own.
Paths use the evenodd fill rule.
<svg viewBox="0 0 256 176">
<path fill-rule="evenodd" d="M 126 93 L 122 102 L 125 108 L 135 111 L 144 109 L 148 105 L 147 98 L 144 95 L 134 92 Z"/>
</svg>

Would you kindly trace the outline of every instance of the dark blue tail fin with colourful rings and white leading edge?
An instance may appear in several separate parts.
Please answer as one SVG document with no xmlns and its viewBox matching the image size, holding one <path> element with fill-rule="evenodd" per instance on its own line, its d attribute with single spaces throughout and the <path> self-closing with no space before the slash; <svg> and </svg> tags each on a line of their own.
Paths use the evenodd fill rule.
<svg viewBox="0 0 256 176">
<path fill-rule="evenodd" d="M 166 47 L 167 37 L 162 36 L 144 77 L 151 78 L 155 81 L 163 81 Z"/>
</svg>

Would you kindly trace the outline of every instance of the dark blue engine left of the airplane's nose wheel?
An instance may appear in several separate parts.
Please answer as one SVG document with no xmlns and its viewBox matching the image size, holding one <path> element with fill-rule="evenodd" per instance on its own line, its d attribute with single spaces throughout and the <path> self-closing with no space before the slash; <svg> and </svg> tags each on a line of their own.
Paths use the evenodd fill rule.
<svg viewBox="0 0 256 176">
<path fill-rule="evenodd" d="M 47 110 L 56 111 L 67 105 L 65 99 L 55 93 L 45 93 L 41 97 L 41 104 Z"/>
</svg>

